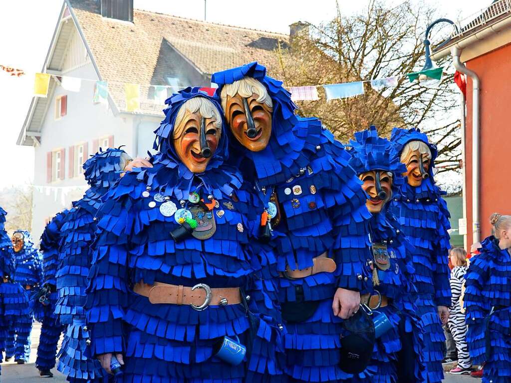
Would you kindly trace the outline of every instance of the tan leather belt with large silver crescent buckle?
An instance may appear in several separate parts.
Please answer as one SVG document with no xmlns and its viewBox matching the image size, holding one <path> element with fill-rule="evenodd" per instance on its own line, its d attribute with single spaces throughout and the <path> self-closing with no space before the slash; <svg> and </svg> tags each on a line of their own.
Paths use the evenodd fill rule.
<svg viewBox="0 0 511 383">
<path fill-rule="evenodd" d="M 153 304 L 190 305 L 198 311 L 207 306 L 236 305 L 242 302 L 239 287 L 211 288 L 205 283 L 189 287 L 161 282 L 148 285 L 142 281 L 133 286 L 133 292 L 148 297 Z"/>
</svg>

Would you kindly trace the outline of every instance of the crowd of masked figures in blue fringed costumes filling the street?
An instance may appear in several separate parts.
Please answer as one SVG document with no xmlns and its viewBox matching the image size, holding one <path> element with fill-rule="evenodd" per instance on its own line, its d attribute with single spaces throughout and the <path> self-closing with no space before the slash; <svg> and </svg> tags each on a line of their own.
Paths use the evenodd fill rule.
<svg viewBox="0 0 511 383">
<path fill-rule="evenodd" d="M 90 188 L 39 250 L 26 231 L 7 236 L 1 211 L 6 360 L 28 361 L 35 318 L 37 369 L 69 381 L 441 381 L 451 292 L 436 147 L 373 126 L 343 146 L 257 62 L 212 82 L 167 100 L 148 160 L 92 155 Z M 469 338 L 487 359 L 478 312 Z M 511 381 L 509 343 L 492 346 L 487 378 Z"/>
</svg>

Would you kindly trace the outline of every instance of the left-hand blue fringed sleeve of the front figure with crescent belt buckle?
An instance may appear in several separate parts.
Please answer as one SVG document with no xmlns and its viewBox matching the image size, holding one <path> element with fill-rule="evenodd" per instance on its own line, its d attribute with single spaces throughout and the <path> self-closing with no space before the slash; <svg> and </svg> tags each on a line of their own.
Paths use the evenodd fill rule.
<svg viewBox="0 0 511 383">
<path fill-rule="evenodd" d="M 91 353 L 125 351 L 122 318 L 127 305 L 127 238 L 129 197 L 126 201 L 108 199 L 93 245 L 92 265 L 87 287 L 86 314 L 91 328 Z"/>
</svg>

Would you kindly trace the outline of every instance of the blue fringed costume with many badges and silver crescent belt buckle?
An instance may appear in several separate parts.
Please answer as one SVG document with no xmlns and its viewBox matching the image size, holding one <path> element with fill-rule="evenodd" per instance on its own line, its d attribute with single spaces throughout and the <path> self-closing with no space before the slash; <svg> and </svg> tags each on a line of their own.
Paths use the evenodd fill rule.
<svg viewBox="0 0 511 383">
<path fill-rule="evenodd" d="M 94 354 L 124 354 L 118 381 L 267 381 L 275 370 L 267 355 L 278 332 L 259 314 L 255 299 L 247 297 L 252 296 L 254 265 L 260 262 L 248 249 L 252 223 L 243 213 L 251 207 L 251 197 L 239 189 L 242 179 L 236 169 L 223 164 L 223 119 L 205 172 L 192 173 L 174 149 L 176 115 L 197 97 L 213 103 L 221 115 L 216 99 L 198 88 L 168 99 L 166 118 L 156 130 L 160 152 L 151 159 L 154 167 L 127 173 L 101 208 L 87 321 Z M 185 228 L 193 236 L 174 240 L 171 233 L 177 238 L 176 229 Z M 219 299 L 218 289 L 232 294 L 230 302 Z M 205 308 L 196 310 L 192 303 Z M 238 337 L 247 346 L 244 362 L 230 365 L 214 355 L 224 336 Z"/>
</svg>

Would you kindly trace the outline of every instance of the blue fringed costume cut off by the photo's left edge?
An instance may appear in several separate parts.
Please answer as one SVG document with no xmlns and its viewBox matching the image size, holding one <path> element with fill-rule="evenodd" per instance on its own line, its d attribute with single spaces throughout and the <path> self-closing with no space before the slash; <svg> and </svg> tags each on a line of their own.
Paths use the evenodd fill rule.
<svg viewBox="0 0 511 383">
<path fill-rule="evenodd" d="M 10 340 L 9 330 L 16 328 L 17 319 L 28 316 L 30 310 L 27 292 L 12 280 L 14 252 L 5 230 L 6 214 L 0 207 L 0 362 Z"/>
</svg>

